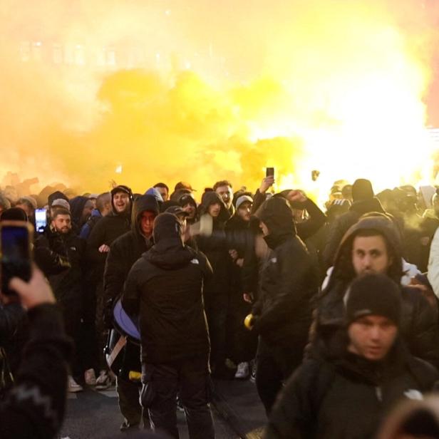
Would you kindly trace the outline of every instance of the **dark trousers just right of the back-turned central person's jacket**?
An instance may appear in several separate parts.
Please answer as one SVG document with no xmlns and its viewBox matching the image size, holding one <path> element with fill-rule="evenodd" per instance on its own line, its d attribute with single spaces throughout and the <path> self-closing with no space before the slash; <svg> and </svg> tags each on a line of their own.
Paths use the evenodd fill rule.
<svg viewBox="0 0 439 439">
<path fill-rule="evenodd" d="M 205 312 L 210 336 L 210 364 L 212 369 L 224 366 L 226 359 L 228 294 L 205 294 Z"/>
</svg>

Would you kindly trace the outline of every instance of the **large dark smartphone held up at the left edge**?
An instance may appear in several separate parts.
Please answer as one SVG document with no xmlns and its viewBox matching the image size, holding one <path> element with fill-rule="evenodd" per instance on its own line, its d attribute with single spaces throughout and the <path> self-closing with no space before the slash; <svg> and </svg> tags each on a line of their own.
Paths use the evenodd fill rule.
<svg viewBox="0 0 439 439">
<path fill-rule="evenodd" d="M 0 223 L 1 294 L 16 294 L 9 289 L 9 281 L 13 277 L 19 277 L 26 282 L 31 279 L 32 232 L 29 222 Z"/>
</svg>

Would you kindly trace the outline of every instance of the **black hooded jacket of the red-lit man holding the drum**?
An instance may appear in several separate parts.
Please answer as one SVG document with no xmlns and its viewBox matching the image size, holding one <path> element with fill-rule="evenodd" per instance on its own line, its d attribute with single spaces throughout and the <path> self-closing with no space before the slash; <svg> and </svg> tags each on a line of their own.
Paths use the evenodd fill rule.
<svg viewBox="0 0 439 439">
<path fill-rule="evenodd" d="M 143 212 L 159 214 L 159 206 L 153 195 L 142 195 L 135 200 L 131 215 L 131 230 L 115 239 L 110 246 L 104 272 L 105 314 L 112 314 L 113 302 L 123 291 L 123 284 L 134 262 L 153 246 L 153 240 L 143 236 L 140 216 Z M 102 220 L 101 220 L 102 221 Z"/>
</svg>

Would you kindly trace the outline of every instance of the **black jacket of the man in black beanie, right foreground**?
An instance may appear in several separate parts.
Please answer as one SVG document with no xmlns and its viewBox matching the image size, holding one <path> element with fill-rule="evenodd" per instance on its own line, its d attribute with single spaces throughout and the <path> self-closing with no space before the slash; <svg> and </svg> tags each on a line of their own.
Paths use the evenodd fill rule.
<svg viewBox="0 0 439 439">
<path fill-rule="evenodd" d="M 431 391 L 438 378 L 398 341 L 384 362 L 346 348 L 331 361 L 304 361 L 274 406 L 264 438 L 373 438 L 396 403 Z"/>
</svg>

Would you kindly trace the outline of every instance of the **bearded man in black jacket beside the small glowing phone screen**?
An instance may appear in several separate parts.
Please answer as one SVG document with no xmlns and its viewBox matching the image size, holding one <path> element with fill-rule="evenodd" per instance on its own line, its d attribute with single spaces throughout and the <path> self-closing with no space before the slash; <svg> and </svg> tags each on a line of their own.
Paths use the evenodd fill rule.
<svg viewBox="0 0 439 439">
<path fill-rule="evenodd" d="M 84 242 L 72 230 L 71 214 L 66 209 L 56 209 L 53 212 L 50 227 L 38 237 L 35 243 L 38 246 L 48 246 L 53 252 L 61 252 L 63 257 L 68 257 L 70 268 L 48 277 L 48 280 L 55 294 L 56 301 L 61 307 L 66 333 L 71 336 L 76 344 L 76 350 L 71 362 L 71 373 L 69 376 L 68 391 L 78 392 L 83 388 L 75 378 L 82 375 L 82 365 L 78 357 L 81 329 L 81 308 L 83 301 L 83 261 Z M 62 254 L 62 252 L 66 252 Z M 73 378 L 75 377 L 75 378 Z"/>
</svg>

